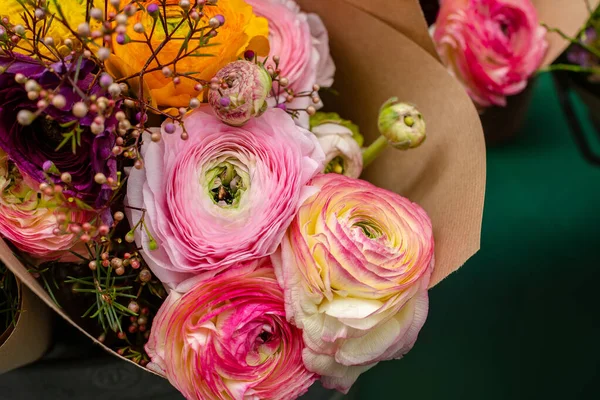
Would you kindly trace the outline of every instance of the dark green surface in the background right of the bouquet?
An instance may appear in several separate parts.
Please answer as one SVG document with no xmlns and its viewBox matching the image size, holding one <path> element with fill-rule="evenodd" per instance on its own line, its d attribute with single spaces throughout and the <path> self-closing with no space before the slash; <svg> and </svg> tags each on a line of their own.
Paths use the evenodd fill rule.
<svg viewBox="0 0 600 400">
<path fill-rule="evenodd" d="M 415 348 L 364 374 L 359 398 L 600 399 L 600 167 L 548 75 L 487 171 L 480 252 L 430 291 Z"/>
</svg>

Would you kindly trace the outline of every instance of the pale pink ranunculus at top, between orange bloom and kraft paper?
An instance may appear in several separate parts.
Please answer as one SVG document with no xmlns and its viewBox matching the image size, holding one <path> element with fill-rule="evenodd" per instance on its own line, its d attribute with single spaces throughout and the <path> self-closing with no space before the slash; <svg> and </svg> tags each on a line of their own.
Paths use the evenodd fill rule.
<svg viewBox="0 0 600 400">
<path fill-rule="evenodd" d="M 270 57 L 280 57 L 281 75 L 295 93 L 312 91 L 313 85 L 333 84 L 335 64 L 329 53 L 327 29 L 316 14 L 306 14 L 293 0 L 246 0 L 254 12 L 269 21 Z M 275 66 L 270 59 L 267 65 Z M 285 95 L 285 93 L 284 93 Z M 274 99 L 270 101 L 274 104 Z M 310 97 L 300 97 L 288 108 L 306 109 Z M 308 115 L 301 113 L 299 124 L 308 127 Z"/>
</svg>

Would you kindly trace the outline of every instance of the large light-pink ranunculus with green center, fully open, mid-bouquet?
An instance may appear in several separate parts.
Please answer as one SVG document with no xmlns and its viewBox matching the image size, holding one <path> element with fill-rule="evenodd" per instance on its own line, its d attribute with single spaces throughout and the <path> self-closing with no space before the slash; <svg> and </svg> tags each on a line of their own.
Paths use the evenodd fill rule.
<svg viewBox="0 0 600 400">
<path fill-rule="evenodd" d="M 272 254 L 323 168 L 314 135 L 278 109 L 233 127 L 201 107 L 184 118 L 185 141 L 166 125 L 160 142 L 144 141 L 145 167 L 127 187 L 128 204 L 145 210 L 136 241 L 155 275 L 173 286 Z M 129 218 L 135 226 L 142 212 Z"/>
</svg>

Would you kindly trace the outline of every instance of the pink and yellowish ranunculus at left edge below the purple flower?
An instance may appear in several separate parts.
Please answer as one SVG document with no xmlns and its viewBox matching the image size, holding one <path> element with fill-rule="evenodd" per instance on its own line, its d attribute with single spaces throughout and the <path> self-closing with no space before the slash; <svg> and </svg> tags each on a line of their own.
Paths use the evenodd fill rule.
<svg viewBox="0 0 600 400">
<path fill-rule="evenodd" d="M 77 238 L 72 233 L 55 232 L 60 227 L 58 204 L 54 196 L 40 193 L 37 186 L 0 150 L 0 235 L 29 256 L 69 261 L 67 251 L 76 245 Z M 69 221 L 85 222 L 81 211 L 68 214 Z"/>
</svg>

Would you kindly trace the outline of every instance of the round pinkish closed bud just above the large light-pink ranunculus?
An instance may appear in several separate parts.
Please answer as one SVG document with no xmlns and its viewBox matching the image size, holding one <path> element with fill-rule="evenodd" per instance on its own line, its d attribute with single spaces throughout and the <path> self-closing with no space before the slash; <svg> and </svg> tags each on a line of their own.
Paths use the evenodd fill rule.
<svg viewBox="0 0 600 400">
<path fill-rule="evenodd" d="M 216 79 L 224 85 L 211 89 L 208 101 L 221 121 L 241 126 L 266 111 L 272 81 L 261 65 L 234 61 L 222 68 Z"/>
</svg>

